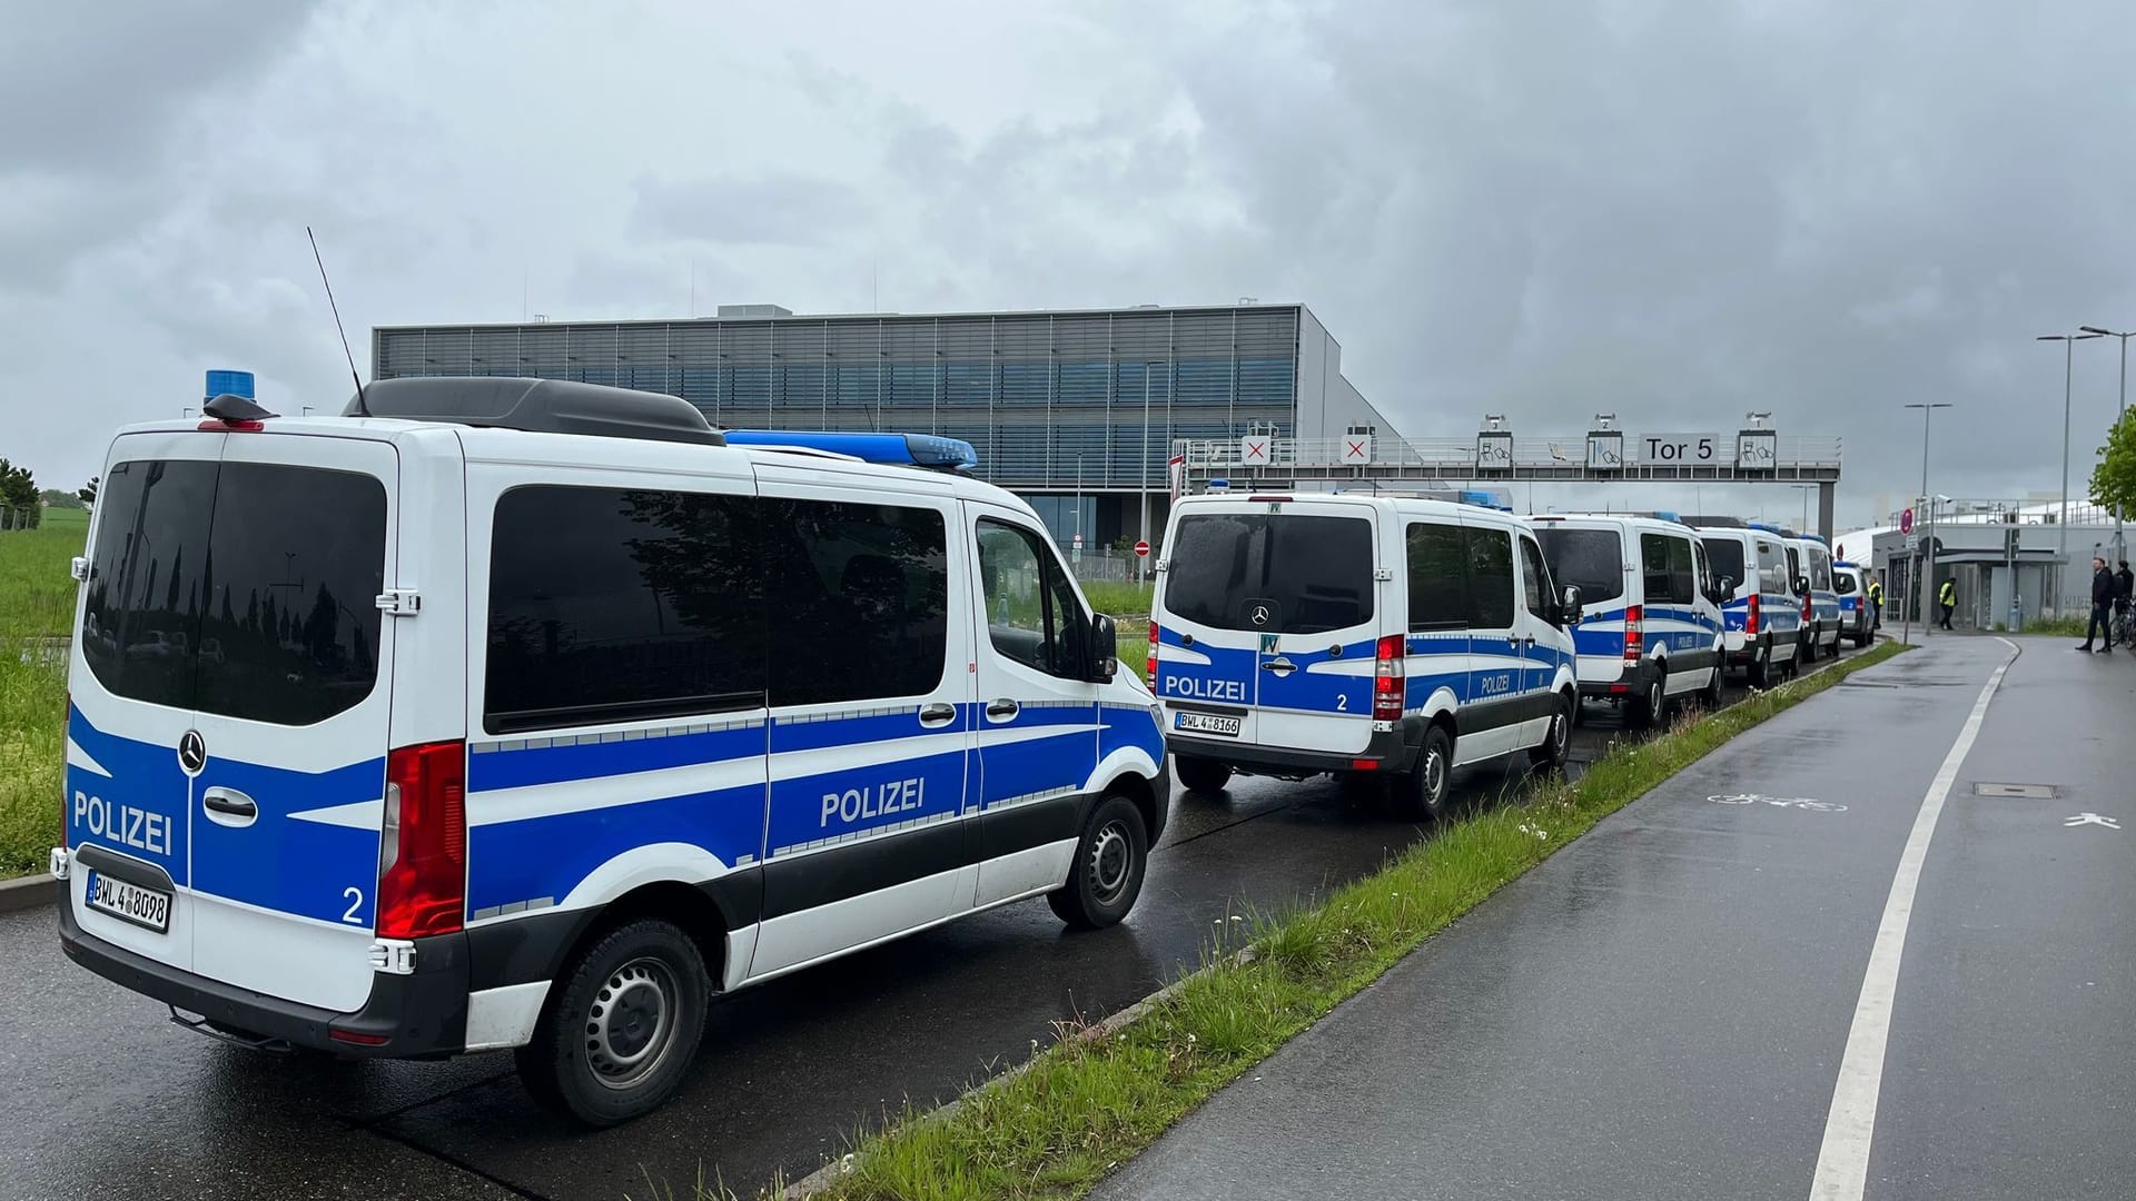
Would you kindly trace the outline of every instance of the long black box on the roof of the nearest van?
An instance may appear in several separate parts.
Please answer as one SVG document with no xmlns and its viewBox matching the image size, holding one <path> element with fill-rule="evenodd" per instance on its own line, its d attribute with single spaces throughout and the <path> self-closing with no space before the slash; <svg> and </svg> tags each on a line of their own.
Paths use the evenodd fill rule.
<svg viewBox="0 0 2136 1201">
<path fill-rule="evenodd" d="M 538 434 L 596 434 L 724 447 L 726 438 L 679 395 L 575 380 L 421 376 L 378 380 L 342 417 L 449 421 Z"/>
</svg>

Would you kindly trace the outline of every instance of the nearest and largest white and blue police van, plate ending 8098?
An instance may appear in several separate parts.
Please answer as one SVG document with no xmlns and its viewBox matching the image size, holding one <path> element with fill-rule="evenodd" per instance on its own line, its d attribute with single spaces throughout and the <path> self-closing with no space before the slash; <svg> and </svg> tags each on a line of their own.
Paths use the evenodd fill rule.
<svg viewBox="0 0 2136 1201">
<path fill-rule="evenodd" d="M 968 444 L 517 378 L 350 410 L 218 397 L 111 444 L 51 857 L 75 962 L 261 1047 L 519 1049 L 611 1124 L 713 994 L 1134 904 L 1168 774 L 1111 622 L 1015 496 L 835 453 Z"/>
</svg>

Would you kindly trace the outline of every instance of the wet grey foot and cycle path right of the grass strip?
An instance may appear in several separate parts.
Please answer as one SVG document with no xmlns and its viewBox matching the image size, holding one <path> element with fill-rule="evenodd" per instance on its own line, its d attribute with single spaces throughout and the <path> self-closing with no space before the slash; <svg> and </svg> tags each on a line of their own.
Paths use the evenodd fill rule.
<svg viewBox="0 0 2136 1201">
<path fill-rule="evenodd" d="M 1719 748 L 1096 1197 L 1809 1197 L 1901 848 L 2008 654 L 1937 639 Z M 1984 709 L 1912 908 L 1867 1199 L 2127 1197 L 2136 812 L 2074 818 L 2130 810 L 2132 684 L 2031 641 Z"/>
</svg>

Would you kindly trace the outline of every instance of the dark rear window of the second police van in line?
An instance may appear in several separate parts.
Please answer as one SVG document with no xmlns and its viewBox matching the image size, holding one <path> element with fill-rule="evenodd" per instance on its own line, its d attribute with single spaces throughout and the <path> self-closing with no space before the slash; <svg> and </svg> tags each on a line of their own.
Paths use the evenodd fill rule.
<svg viewBox="0 0 2136 1201">
<path fill-rule="evenodd" d="M 1371 620 L 1371 521 L 1290 513 L 1183 517 L 1164 609 L 1220 630 L 1316 635 Z M 1267 622 L 1254 611 L 1267 607 Z"/>
</svg>

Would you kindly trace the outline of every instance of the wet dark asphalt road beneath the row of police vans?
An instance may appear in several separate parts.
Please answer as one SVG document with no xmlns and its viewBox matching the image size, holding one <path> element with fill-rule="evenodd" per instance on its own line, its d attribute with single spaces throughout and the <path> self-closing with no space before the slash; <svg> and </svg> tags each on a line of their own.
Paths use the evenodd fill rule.
<svg viewBox="0 0 2136 1201">
<path fill-rule="evenodd" d="M 1574 765 L 1623 737 L 1589 705 Z M 1576 767 L 1574 767 L 1576 769 Z M 1457 778 L 1474 804 L 1519 767 Z M 169 1024 L 60 955 L 51 910 L 0 917 L 0 1197 L 647 1197 L 752 1190 L 842 1154 L 906 1098 L 1023 1060 L 1198 964 L 1228 917 L 1378 868 L 1423 838 L 1329 780 L 1175 793 L 1126 923 L 1066 934 L 1023 902 L 722 1000 L 666 1109 L 585 1133 L 521 1092 L 508 1056 L 444 1064 L 267 1058 Z"/>
</svg>

